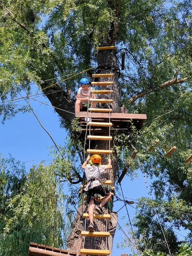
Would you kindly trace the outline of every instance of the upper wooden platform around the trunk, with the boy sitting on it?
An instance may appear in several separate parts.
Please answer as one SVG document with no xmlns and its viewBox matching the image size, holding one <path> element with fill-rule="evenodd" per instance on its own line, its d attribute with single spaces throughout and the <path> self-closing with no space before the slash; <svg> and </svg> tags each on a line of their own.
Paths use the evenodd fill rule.
<svg viewBox="0 0 192 256">
<path fill-rule="evenodd" d="M 99 109 L 99 108 L 98 108 Z M 85 121 L 85 117 L 87 116 L 87 112 L 80 111 L 76 112 L 76 117 L 79 117 L 79 122 L 81 123 L 81 127 L 84 129 L 84 132 L 86 131 L 86 125 L 87 122 Z M 90 117 L 90 114 L 88 114 L 88 117 Z M 113 124 L 111 128 L 111 132 L 117 129 L 127 129 L 130 130 L 131 127 L 131 119 L 134 124 L 134 126 L 137 128 L 137 130 L 140 130 L 143 126 L 143 123 L 147 119 L 146 114 L 125 114 L 125 113 L 111 113 L 110 114 L 110 122 Z M 91 113 L 91 121 L 92 122 L 109 122 L 109 113 Z M 107 133 L 108 128 L 99 128 L 99 127 L 91 127 L 91 130 L 94 132 L 94 134 L 101 134 L 101 133 Z"/>
</svg>

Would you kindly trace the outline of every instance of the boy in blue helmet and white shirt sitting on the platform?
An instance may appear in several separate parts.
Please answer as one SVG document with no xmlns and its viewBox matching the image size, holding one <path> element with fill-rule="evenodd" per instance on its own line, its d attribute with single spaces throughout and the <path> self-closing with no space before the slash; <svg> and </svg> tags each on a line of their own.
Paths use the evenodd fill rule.
<svg viewBox="0 0 192 256">
<path fill-rule="evenodd" d="M 77 93 L 77 100 L 76 100 L 76 107 L 75 107 L 76 112 L 79 112 L 80 110 L 87 111 L 87 109 L 84 109 L 83 103 L 88 104 L 89 94 L 90 94 L 89 80 L 84 77 L 80 80 L 80 84 L 81 84 L 81 87 L 79 88 Z M 96 99 L 95 94 L 93 94 L 93 99 Z M 96 104 L 93 103 L 92 107 L 96 108 Z"/>
</svg>

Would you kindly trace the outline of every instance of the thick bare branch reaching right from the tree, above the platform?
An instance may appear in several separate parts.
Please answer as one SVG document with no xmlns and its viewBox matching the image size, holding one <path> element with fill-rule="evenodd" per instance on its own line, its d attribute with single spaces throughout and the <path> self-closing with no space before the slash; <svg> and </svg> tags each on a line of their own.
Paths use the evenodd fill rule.
<svg viewBox="0 0 192 256">
<path fill-rule="evenodd" d="M 165 83 L 161 84 L 159 88 L 154 88 L 154 89 L 151 89 L 151 90 L 148 90 L 148 91 L 142 91 L 140 93 L 138 93 L 137 95 L 131 97 L 131 99 L 129 99 L 128 103 L 129 104 L 132 104 L 134 103 L 137 99 L 145 96 L 146 94 L 148 93 L 151 93 L 151 92 L 154 92 L 156 91 L 157 89 L 163 89 L 167 86 L 170 86 L 172 84 L 182 84 L 184 81 L 186 81 L 187 79 L 191 79 L 192 76 L 189 76 L 189 77 L 186 77 L 186 78 L 183 78 L 183 79 L 180 79 L 180 80 L 177 80 L 177 76 L 178 76 L 178 73 L 175 74 L 174 78 L 172 80 L 169 80 L 169 81 L 166 81 Z"/>
</svg>

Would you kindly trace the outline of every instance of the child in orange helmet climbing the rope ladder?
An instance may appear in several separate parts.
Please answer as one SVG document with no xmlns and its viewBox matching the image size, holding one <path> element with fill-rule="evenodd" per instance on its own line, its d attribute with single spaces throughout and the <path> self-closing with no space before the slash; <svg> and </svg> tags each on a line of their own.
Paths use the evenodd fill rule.
<svg viewBox="0 0 192 256">
<path fill-rule="evenodd" d="M 85 188 L 87 194 L 87 202 L 89 204 L 89 219 L 90 225 L 88 227 L 89 231 L 94 231 L 93 225 L 93 210 L 95 207 L 95 194 L 105 196 L 101 204 L 95 207 L 95 210 L 99 214 L 104 214 L 102 207 L 109 201 L 111 198 L 111 192 L 105 188 L 100 181 L 101 173 L 107 169 L 111 169 L 111 159 L 108 159 L 107 166 L 100 166 L 102 158 L 98 154 L 94 154 L 91 158 L 87 157 L 87 160 L 83 163 L 82 169 L 84 169 L 85 176 L 87 178 L 87 186 Z M 87 166 L 87 163 L 90 163 L 90 166 Z"/>
</svg>

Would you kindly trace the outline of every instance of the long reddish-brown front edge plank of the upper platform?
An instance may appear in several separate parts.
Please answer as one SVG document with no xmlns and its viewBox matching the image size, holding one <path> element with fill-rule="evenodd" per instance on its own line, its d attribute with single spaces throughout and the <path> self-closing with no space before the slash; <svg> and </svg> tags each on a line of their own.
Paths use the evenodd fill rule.
<svg viewBox="0 0 192 256">
<path fill-rule="evenodd" d="M 101 110 L 102 108 L 97 108 L 97 109 Z M 76 112 L 76 117 L 85 118 L 86 116 L 87 116 L 87 112 L 85 112 L 85 111 Z M 109 119 L 109 115 L 107 113 L 92 113 L 91 118 Z M 125 119 L 146 120 L 147 116 L 145 114 L 111 113 L 111 119 L 116 119 L 119 121 L 125 120 Z"/>
</svg>

